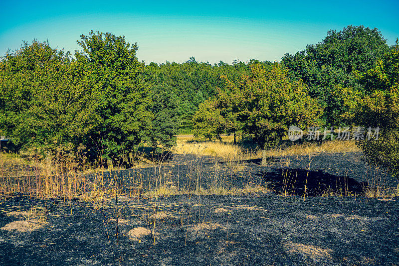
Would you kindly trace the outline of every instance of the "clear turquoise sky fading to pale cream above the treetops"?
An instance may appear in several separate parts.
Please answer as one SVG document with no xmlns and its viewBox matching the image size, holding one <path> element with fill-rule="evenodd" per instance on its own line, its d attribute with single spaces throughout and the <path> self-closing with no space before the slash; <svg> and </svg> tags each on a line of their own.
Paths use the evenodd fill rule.
<svg viewBox="0 0 399 266">
<path fill-rule="evenodd" d="M 93 29 L 137 42 L 137 56 L 147 64 L 191 56 L 212 64 L 279 61 L 348 24 L 377 27 L 392 45 L 399 37 L 399 1 L 0 0 L 0 55 L 33 39 L 73 52 L 80 50 L 80 35 Z"/>
</svg>

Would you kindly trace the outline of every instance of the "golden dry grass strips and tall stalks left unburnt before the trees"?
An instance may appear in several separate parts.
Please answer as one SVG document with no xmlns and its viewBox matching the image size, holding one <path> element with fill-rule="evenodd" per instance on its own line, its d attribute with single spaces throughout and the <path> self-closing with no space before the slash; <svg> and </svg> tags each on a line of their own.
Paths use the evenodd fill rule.
<svg viewBox="0 0 399 266">
<path fill-rule="evenodd" d="M 247 167 L 243 160 L 261 157 L 261 151 L 258 149 L 244 149 L 242 145 L 232 144 L 232 142 L 232 136 L 222 136 L 222 142 L 196 142 L 193 141 L 193 137 L 178 137 L 178 145 L 174 147 L 173 152 L 222 157 L 225 160 L 225 165 L 232 172 L 242 171 Z M 314 153 L 349 151 L 359 151 L 354 141 L 337 140 L 321 144 L 305 142 L 293 145 L 290 142 L 283 142 L 278 148 L 269 150 L 267 156 L 286 156 L 288 158 L 289 155 L 306 154 L 310 156 Z M 145 162 L 144 159 L 139 161 L 139 168 L 143 166 L 143 162 Z M 29 167 L 25 167 L 28 172 L 10 172 L 9 165 L 28 165 Z M 127 188 L 130 191 L 130 197 L 138 198 L 140 196 L 158 197 L 181 194 L 258 195 L 272 192 L 267 187 L 251 182 L 249 179 L 244 180 L 246 185 L 243 188 L 226 185 L 226 175 L 220 174 L 217 160 L 215 160 L 214 175 L 203 176 L 201 156 L 189 162 L 187 178 L 181 179 L 181 183 L 178 181 L 177 184 L 168 183 L 165 177 L 161 176 L 163 172 L 161 169 L 164 167 L 162 161 L 156 164 L 153 160 L 152 166 L 155 167 L 155 176 L 151 177 L 151 180 L 150 176 L 142 176 L 141 170 L 135 176 L 130 176 L 129 173 L 127 179 L 119 180 L 118 170 L 122 169 L 120 165 L 115 165 L 114 170 L 116 171 L 112 173 L 113 176 L 104 180 L 103 172 L 107 169 L 85 168 L 78 166 L 75 161 L 65 160 L 64 157 L 57 157 L 50 161 L 45 159 L 28 161 L 15 154 L 0 153 L 0 195 L 7 197 L 14 193 L 21 193 L 31 198 L 64 198 L 68 200 L 79 198 L 91 202 L 95 209 L 102 209 L 105 200 L 117 195 L 126 195 Z M 88 171 L 93 173 L 90 178 L 87 175 Z M 146 188 L 144 188 L 145 179 L 149 181 L 149 186 Z M 119 180 L 118 183 L 117 180 Z M 371 186 L 366 188 L 366 196 L 392 198 L 399 195 L 399 188 L 395 191 L 388 191 L 384 188 L 384 180 L 379 173 L 371 173 L 370 180 L 376 181 L 369 182 Z M 293 189 L 291 188 L 291 190 Z M 321 196 L 337 196 L 337 192 L 325 190 Z"/>
</svg>

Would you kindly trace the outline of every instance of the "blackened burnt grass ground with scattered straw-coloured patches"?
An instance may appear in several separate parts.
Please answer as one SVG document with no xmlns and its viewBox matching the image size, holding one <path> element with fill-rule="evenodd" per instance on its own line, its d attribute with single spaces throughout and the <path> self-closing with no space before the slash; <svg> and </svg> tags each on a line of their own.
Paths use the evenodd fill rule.
<svg viewBox="0 0 399 266">
<path fill-rule="evenodd" d="M 399 198 L 364 197 L 376 173 L 360 153 L 271 158 L 266 166 L 174 154 L 157 167 L 104 173 L 126 187 L 118 208 L 115 198 L 99 209 L 79 199 L 1 198 L 0 227 L 26 219 L 4 215 L 19 210 L 45 212 L 48 223 L 26 233 L 0 230 L 0 265 L 399 265 Z M 281 195 L 282 173 L 295 196 Z M 271 192 L 161 196 L 154 209 L 154 197 L 129 196 L 138 174 L 144 192 L 157 175 L 194 189 L 197 176 L 206 188 L 215 174 L 225 187 L 261 184 Z M 378 176 L 386 187 L 398 184 Z M 325 188 L 342 196 L 321 197 Z M 133 228 L 153 229 L 154 212 L 163 214 L 155 244 L 152 235 L 131 239 Z"/>
</svg>

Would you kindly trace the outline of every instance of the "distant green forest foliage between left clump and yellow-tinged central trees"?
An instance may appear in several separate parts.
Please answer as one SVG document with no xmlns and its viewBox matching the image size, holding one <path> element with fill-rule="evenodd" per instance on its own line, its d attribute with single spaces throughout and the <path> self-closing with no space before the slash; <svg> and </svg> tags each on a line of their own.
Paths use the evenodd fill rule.
<svg viewBox="0 0 399 266">
<path fill-rule="evenodd" d="M 178 96 L 180 133 L 192 133 L 193 117 L 200 104 L 216 95 L 217 88 L 224 86 L 225 75 L 232 81 L 237 81 L 242 74 L 249 74 L 249 64 L 238 62 L 228 65 L 222 61 L 218 64 L 199 63 L 195 57 L 183 64 L 166 62 L 156 64 L 151 62 L 145 67 L 144 79 L 147 87 L 155 86 L 166 93 Z M 271 62 L 259 62 L 269 65 Z"/>
</svg>

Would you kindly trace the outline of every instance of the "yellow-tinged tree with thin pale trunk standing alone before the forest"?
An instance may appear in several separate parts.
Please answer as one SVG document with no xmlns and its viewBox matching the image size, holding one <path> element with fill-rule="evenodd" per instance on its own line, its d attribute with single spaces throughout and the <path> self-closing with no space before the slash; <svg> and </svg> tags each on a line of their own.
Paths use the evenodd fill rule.
<svg viewBox="0 0 399 266">
<path fill-rule="evenodd" d="M 265 163 L 266 149 L 275 145 L 290 125 L 315 126 L 321 110 L 309 97 L 307 86 L 300 80 L 292 81 L 280 64 L 274 63 L 268 71 L 259 64 L 250 69 L 251 76 L 243 76 L 238 86 L 232 82 L 227 86 L 237 120 L 262 149 Z"/>
</svg>

